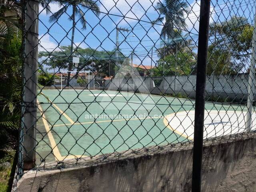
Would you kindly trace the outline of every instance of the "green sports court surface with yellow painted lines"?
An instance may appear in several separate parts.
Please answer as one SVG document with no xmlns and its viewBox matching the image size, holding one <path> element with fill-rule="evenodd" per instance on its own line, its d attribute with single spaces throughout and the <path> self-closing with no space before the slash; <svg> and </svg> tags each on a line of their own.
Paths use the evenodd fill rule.
<svg viewBox="0 0 256 192">
<path fill-rule="evenodd" d="M 194 100 L 106 90 L 42 90 L 42 94 L 37 159 L 61 161 L 189 140 L 164 124 L 164 116 L 194 110 Z M 237 108 L 206 103 L 208 110 Z"/>
</svg>

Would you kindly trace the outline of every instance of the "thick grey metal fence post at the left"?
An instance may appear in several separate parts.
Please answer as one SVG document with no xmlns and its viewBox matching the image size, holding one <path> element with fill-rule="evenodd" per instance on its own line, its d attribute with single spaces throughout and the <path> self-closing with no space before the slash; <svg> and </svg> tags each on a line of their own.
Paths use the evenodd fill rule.
<svg viewBox="0 0 256 192">
<path fill-rule="evenodd" d="M 36 165 L 36 88 L 38 64 L 38 8 L 36 0 L 26 1 L 25 60 L 23 78 L 24 170 Z"/>
</svg>

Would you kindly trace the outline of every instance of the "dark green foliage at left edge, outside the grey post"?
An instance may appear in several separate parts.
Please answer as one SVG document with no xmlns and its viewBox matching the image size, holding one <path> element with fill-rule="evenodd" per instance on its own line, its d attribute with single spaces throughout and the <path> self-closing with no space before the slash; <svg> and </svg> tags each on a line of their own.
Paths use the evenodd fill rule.
<svg viewBox="0 0 256 192">
<path fill-rule="evenodd" d="M 10 3 L 10 4 L 9 4 Z M 16 150 L 21 111 L 20 4 L 0 6 L 0 158 Z M 11 14 L 6 15 L 6 12 Z"/>
</svg>

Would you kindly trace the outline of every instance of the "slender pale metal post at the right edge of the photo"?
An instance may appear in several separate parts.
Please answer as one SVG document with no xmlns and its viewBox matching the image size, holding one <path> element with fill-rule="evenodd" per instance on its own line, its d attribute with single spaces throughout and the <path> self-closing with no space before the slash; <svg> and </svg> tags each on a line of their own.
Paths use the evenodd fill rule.
<svg viewBox="0 0 256 192">
<path fill-rule="evenodd" d="M 255 9 L 256 10 L 256 9 Z M 248 76 L 248 99 L 247 99 L 247 114 L 246 114 L 246 131 L 250 131 L 252 124 L 252 103 L 253 103 L 253 94 L 254 94 L 254 76 L 255 76 L 255 59 L 256 59 L 256 12 L 254 14 L 254 29 L 252 34 L 252 55 L 251 55 L 251 64 L 250 64 L 250 73 Z"/>
</svg>

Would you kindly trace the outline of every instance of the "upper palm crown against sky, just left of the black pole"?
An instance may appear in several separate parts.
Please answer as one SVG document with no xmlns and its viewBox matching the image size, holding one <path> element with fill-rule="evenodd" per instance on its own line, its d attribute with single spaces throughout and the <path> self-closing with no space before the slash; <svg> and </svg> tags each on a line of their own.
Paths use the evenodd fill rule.
<svg viewBox="0 0 256 192">
<path fill-rule="evenodd" d="M 187 2 L 180 2 L 180 0 L 164 0 L 164 2 L 158 2 L 156 10 L 159 12 L 159 17 L 153 21 L 153 25 L 156 23 L 165 23 L 162 28 L 160 36 L 162 38 L 175 38 L 175 28 L 180 30 L 186 28 L 186 22 L 184 13 L 188 13 Z"/>
</svg>

